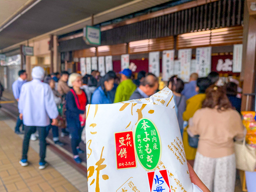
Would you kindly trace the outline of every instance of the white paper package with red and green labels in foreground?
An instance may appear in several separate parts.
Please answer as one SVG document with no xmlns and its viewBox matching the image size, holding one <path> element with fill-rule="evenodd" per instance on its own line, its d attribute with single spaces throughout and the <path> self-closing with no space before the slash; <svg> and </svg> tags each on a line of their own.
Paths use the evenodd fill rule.
<svg viewBox="0 0 256 192">
<path fill-rule="evenodd" d="M 150 98 L 87 105 L 88 191 L 192 192 L 174 106 L 168 88 Z"/>
</svg>

